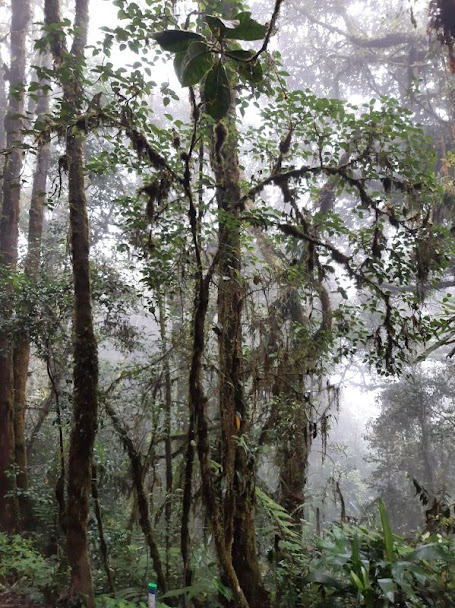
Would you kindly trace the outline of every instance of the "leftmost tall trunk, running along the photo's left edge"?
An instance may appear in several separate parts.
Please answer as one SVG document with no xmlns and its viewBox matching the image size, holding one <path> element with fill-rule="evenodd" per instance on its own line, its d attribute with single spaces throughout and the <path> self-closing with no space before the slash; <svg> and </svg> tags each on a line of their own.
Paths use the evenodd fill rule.
<svg viewBox="0 0 455 608">
<path fill-rule="evenodd" d="M 0 333 L 0 529 L 12 530 L 17 518 L 15 499 L 5 498 L 12 489 L 8 468 L 14 461 L 13 430 L 13 355 L 8 325 L 12 320 L 11 288 L 8 275 L 16 270 L 19 234 L 19 202 L 22 173 L 22 128 L 26 49 L 25 42 L 31 19 L 29 0 L 13 0 L 11 13 L 11 66 L 9 102 L 5 118 L 8 154 L 3 172 L 3 205 L 0 220 L 0 265 L 6 279 L 3 304 L 3 329 Z M 15 483 L 15 482 L 13 482 Z"/>
</svg>

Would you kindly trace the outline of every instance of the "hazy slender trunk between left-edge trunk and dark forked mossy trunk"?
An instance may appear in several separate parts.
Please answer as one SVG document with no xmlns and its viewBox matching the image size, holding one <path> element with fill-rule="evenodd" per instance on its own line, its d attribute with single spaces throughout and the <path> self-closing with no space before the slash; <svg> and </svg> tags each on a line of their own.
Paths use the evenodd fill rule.
<svg viewBox="0 0 455 608">
<path fill-rule="evenodd" d="M 45 65 L 48 62 L 45 60 Z M 46 85 L 42 82 L 41 85 Z M 41 90 L 36 113 L 38 121 L 49 111 L 49 94 L 45 87 Z M 33 177 L 32 198 L 30 202 L 28 224 L 28 250 L 25 259 L 24 274 L 30 284 L 35 284 L 38 276 L 41 237 L 43 233 L 43 203 L 46 197 L 47 172 L 49 167 L 50 138 L 44 133 L 36 156 L 35 173 Z M 26 500 L 27 482 L 27 450 L 25 445 L 25 411 L 28 364 L 30 358 L 30 337 L 26 333 L 17 336 L 14 345 L 14 449 L 18 467 L 17 487 L 19 492 L 19 507 L 22 517 L 27 521 L 30 516 L 30 505 Z"/>
</svg>

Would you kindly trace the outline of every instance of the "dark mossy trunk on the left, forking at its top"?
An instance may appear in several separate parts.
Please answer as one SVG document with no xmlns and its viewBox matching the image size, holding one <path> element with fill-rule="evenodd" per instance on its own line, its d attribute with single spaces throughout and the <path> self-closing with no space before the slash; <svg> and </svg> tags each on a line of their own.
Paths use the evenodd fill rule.
<svg viewBox="0 0 455 608">
<path fill-rule="evenodd" d="M 61 22 L 59 0 L 46 0 L 46 25 Z M 98 353 L 93 328 L 89 268 L 89 226 L 84 178 L 84 133 L 74 118 L 84 98 L 84 48 L 87 43 L 88 0 L 75 1 L 75 34 L 67 53 L 59 32 L 51 48 L 56 67 L 65 65 L 62 78 L 63 105 L 74 124 L 66 129 L 70 242 L 74 284 L 74 401 L 68 459 L 67 552 L 71 567 L 70 595 L 80 594 L 94 606 L 94 593 L 87 544 L 87 521 L 91 490 L 92 453 L 98 417 Z M 63 73 L 63 70 L 60 70 Z"/>
</svg>

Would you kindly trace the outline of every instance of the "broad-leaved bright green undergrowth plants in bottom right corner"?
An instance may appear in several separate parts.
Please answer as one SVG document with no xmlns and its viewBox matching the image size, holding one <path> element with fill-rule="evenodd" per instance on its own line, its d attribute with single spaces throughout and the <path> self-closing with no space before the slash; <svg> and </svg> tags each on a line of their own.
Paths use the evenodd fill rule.
<svg viewBox="0 0 455 608">
<path fill-rule="evenodd" d="M 302 582 L 307 606 L 452 605 L 455 599 L 455 545 L 434 534 L 410 543 L 392 534 L 383 504 L 382 530 L 335 526 L 315 539 Z"/>
</svg>

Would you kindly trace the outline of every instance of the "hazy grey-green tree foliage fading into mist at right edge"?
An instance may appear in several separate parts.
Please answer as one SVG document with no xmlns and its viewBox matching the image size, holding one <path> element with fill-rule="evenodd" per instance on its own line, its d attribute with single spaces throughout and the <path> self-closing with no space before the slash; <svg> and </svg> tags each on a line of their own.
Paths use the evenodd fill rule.
<svg viewBox="0 0 455 608">
<path fill-rule="evenodd" d="M 454 463 L 447 458 L 453 446 L 451 367 L 415 366 L 388 384 L 377 399 L 380 414 L 368 428 L 368 460 L 375 467 L 369 483 L 384 500 L 394 529 L 403 534 L 424 524 L 433 529 L 429 515 L 439 512 L 446 518 L 449 507 L 444 492 L 434 494 L 454 491 Z"/>
</svg>

